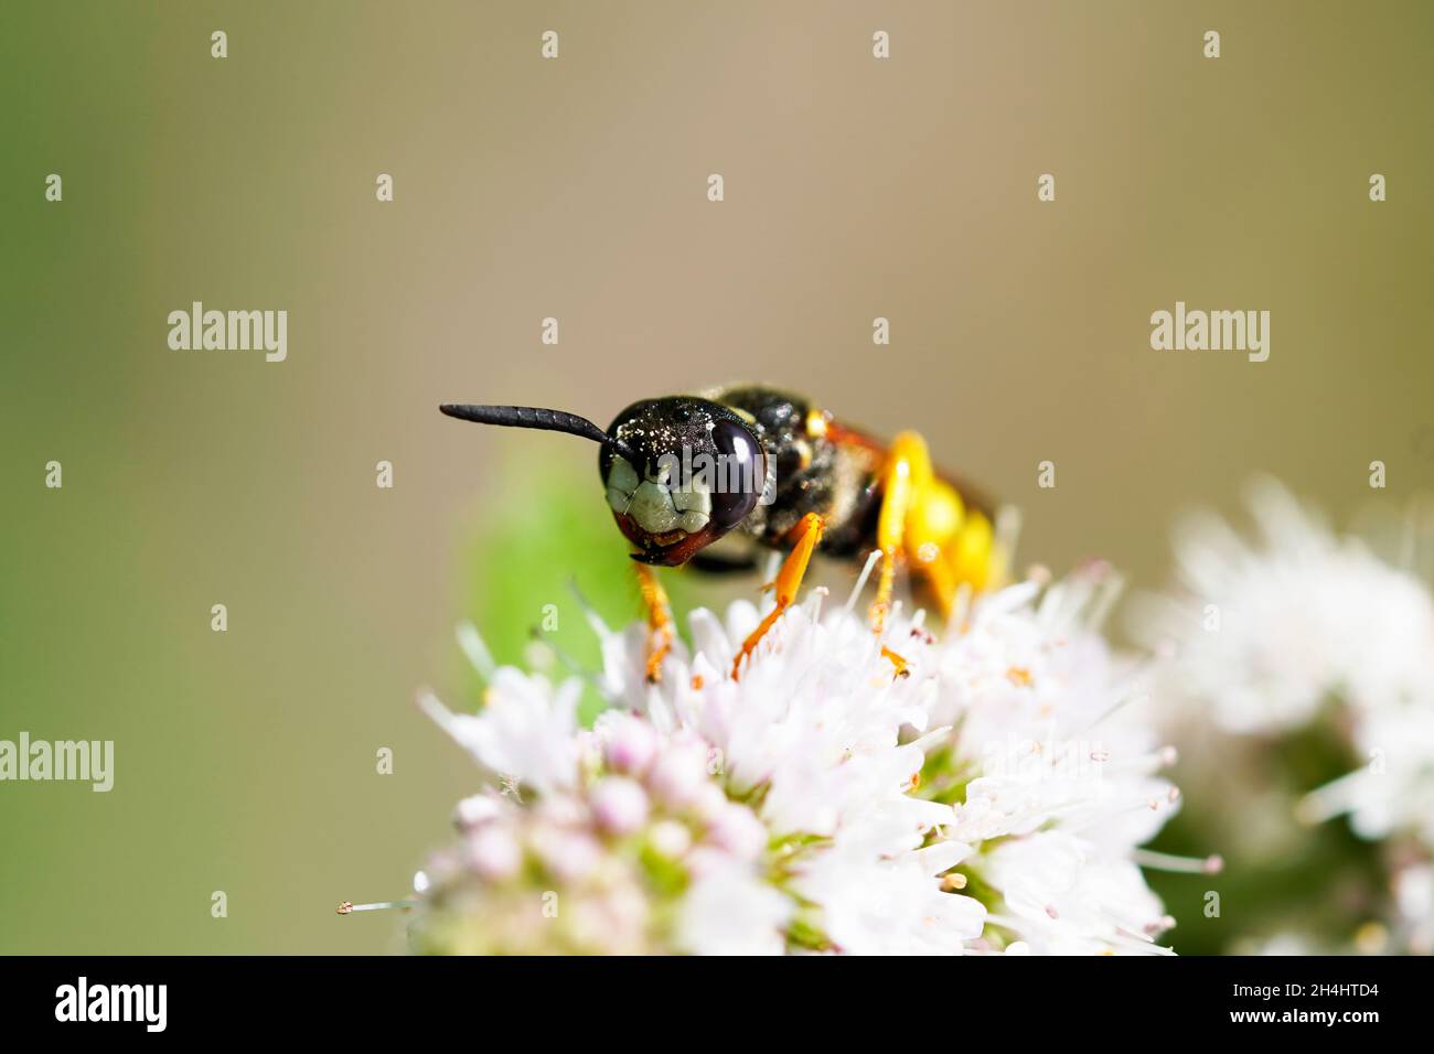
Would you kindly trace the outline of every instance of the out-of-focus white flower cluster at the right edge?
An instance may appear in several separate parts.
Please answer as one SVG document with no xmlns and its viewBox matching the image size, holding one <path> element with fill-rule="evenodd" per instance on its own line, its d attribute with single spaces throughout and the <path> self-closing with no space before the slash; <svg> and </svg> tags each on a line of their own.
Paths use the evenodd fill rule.
<svg viewBox="0 0 1434 1054">
<path fill-rule="evenodd" d="M 1434 594 L 1272 480 L 1250 508 L 1250 542 L 1213 516 L 1189 523 L 1183 594 L 1140 619 L 1149 645 L 1173 645 L 1170 697 L 1230 733 L 1335 728 L 1358 767 L 1314 792 L 1305 819 L 1348 813 L 1364 837 L 1412 832 L 1434 848 Z"/>
</svg>

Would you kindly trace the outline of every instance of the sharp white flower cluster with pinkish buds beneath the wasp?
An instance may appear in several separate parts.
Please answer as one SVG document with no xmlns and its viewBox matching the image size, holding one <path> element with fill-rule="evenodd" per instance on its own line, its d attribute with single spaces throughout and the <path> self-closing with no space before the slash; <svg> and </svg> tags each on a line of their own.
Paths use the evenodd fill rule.
<svg viewBox="0 0 1434 1054">
<path fill-rule="evenodd" d="M 591 730 L 576 680 L 498 670 L 478 716 L 426 698 L 506 793 L 459 807 L 417 946 L 1166 951 L 1137 846 L 1177 800 L 1156 774 L 1172 751 L 1093 625 L 1113 587 L 1011 587 L 944 640 L 898 611 L 880 641 L 812 591 L 740 680 L 751 604 L 695 611 L 658 684 L 645 625 L 598 625 L 611 708 Z"/>
</svg>

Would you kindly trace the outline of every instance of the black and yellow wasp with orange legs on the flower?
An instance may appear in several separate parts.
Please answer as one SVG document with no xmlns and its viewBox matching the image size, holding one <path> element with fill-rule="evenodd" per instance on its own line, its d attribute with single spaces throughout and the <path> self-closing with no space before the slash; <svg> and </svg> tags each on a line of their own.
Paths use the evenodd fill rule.
<svg viewBox="0 0 1434 1054">
<path fill-rule="evenodd" d="M 882 442 L 812 400 L 759 384 L 695 396 L 644 399 L 607 430 L 562 410 L 443 404 L 449 417 L 565 432 L 601 446 L 608 506 L 631 542 L 651 640 L 647 675 L 661 677 L 673 619 L 654 566 L 756 569 L 763 551 L 784 552 L 776 604 L 743 641 L 743 661 L 797 597 L 813 554 L 865 564 L 880 554 L 872 630 L 880 637 L 898 568 L 949 615 L 962 589 L 1005 579 L 1010 541 L 989 500 L 932 467 L 925 440 L 902 432 Z M 716 545 L 721 542 L 721 545 Z M 883 647 L 896 673 L 905 661 Z"/>
</svg>

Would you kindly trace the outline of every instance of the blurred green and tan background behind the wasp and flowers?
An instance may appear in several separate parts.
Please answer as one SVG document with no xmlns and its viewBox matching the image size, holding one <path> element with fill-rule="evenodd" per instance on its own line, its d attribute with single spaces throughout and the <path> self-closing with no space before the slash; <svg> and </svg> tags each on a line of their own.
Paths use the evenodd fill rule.
<svg viewBox="0 0 1434 1054">
<path fill-rule="evenodd" d="M 470 695 L 453 624 L 512 657 L 552 602 L 581 650 L 574 576 L 637 612 L 595 452 L 439 402 L 605 424 L 793 386 L 922 430 L 1024 508 L 1024 559 L 1146 587 L 1174 515 L 1236 508 L 1255 470 L 1335 513 L 1372 459 L 1378 500 L 1434 483 L 1417 0 L 0 19 L 0 739 L 116 741 L 109 794 L 0 784 L 0 951 L 402 948 L 334 905 L 403 895 L 473 789 L 410 706 Z M 288 310 L 288 360 L 171 351 L 194 300 Z M 1269 310 L 1269 361 L 1152 351 L 1176 300 Z M 1167 893 L 1176 948 L 1220 946 L 1199 891 Z"/>
</svg>

